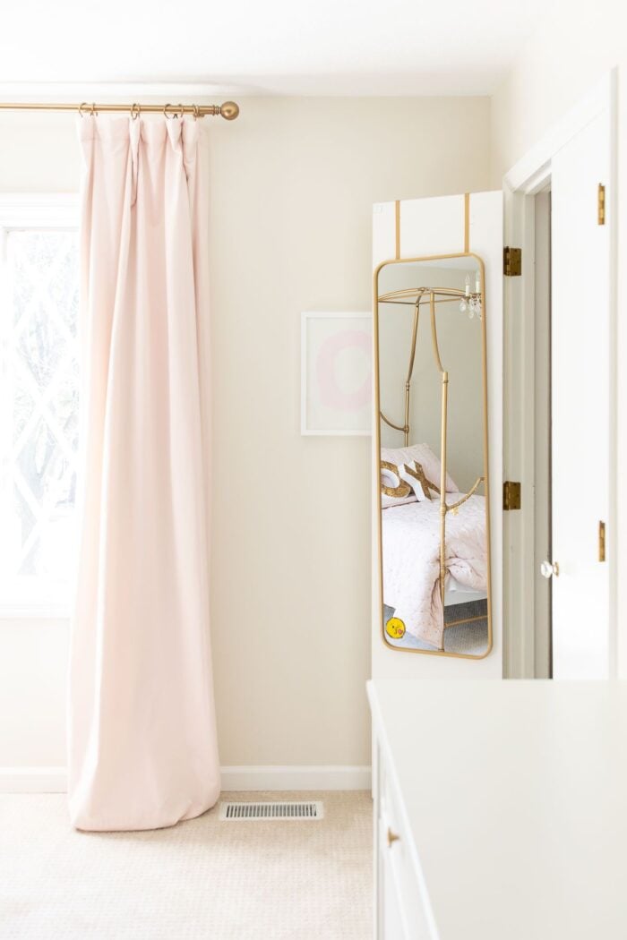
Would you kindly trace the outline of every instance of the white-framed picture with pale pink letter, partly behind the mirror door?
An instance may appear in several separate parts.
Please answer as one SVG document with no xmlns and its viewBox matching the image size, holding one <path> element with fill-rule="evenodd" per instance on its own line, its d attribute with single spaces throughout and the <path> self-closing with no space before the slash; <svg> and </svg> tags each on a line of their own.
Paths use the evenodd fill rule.
<svg viewBox="0 0 627 940">
<path fill-rule="evenodd" d="M 372 433 L 372 314 L 301 314 L 301 434 Z"/>
</svg>

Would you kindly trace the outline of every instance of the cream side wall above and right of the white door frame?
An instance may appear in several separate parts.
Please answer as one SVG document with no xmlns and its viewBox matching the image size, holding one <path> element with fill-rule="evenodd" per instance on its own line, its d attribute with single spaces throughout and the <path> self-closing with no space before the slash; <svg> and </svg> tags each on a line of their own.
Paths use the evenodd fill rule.
<svg viewBox="0 0 627 940">
<path fill-rule="evenodd" d="M 627 291 L 627 8 L 619 0 L 575 0 L 557 10 L 525 43 L 492 101 L 491 176 L 503 175 L 609 71 L 618 67 L 618 271 L 619 318 L 617 479 L 627 476 L 627 321 L 620 298 Z M 619 675 L 627 677 L 627 499 L 618 488 Z"/>
</svg>

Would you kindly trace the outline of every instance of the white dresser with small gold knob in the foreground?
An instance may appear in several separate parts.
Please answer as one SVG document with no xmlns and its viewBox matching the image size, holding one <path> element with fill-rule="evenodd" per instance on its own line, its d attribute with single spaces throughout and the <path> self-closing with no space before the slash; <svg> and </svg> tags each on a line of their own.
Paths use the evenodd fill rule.
<svg viewBox="0 0 627 940">
<path fill-rule="evenodd" d="M 368 683 L 377 940 L 627 938 L 627 683 Z"/>
</svg>

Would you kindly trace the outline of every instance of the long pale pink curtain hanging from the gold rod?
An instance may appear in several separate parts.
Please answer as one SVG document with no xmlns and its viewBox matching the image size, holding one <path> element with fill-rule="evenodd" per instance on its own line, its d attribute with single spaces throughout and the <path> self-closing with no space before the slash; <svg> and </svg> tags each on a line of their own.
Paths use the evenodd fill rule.
<svg viewBox="0 0 627 940">
<path fill-rule="evenodd" d="M 71 821 L 153 829 L 198 816 L 220 791 L 200 395 L 207 140 L 192 119 L 78 128 L 86 472 Z"/>
</svg>

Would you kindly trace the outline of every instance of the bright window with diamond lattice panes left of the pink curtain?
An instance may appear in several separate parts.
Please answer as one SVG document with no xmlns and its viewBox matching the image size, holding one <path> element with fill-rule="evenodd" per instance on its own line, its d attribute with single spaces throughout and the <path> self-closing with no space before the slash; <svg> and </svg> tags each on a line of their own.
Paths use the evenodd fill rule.
<svg viewBox="0 0 627 940">
<path fill-rule="evenodd" d="M 78 236 L 72 197 L 0 196 L 0 610 L 64 613 L 74 559 Z"/>
</svg>

